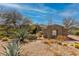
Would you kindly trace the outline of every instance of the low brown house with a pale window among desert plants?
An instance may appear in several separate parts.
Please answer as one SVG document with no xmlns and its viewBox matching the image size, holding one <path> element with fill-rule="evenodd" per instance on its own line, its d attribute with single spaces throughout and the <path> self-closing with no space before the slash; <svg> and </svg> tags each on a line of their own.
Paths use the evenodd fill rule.
<svg viewBox="0 0 79 59">
<path fill-rule="evenodd" d="M 43 34 L 45 38 L 56 38 L 58 35 L 67 35 L 67 30 L 61 25 L 48 25 Z"/>
</svg>

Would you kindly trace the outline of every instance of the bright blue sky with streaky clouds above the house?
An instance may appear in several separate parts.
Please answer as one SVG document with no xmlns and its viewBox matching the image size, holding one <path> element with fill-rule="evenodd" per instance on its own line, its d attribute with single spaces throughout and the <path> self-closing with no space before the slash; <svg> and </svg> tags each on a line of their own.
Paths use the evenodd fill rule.
<svg viewBox="0 0 79 59">
<path fill-rule="evenodd" d="M 37 24 L 47 24 L 52 19 L 54 24 L 62 24 L 65 17 L 79 19 L 79 4 L 68 3 L 6 3 L 0 7 L 17 9 L 21 14 Z"/>
</svg>

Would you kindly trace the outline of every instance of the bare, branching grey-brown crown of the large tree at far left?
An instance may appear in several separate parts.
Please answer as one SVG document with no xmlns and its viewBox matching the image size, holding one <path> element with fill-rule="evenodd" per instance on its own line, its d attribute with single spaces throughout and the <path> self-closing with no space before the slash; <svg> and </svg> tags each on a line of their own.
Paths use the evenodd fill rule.
<svg viewBox="0 0 79 59">
<path fill-rule="evenodd" d="M 17 20 L 21 20 L 22 15 L 17 10 L 9 10 L 9 11 L 3 11 L 3 14 L 1 15 L 3 19 L 5 19 L 4 24 L 7 26 L 13 26 L 16 27 Z"/>
</svg>

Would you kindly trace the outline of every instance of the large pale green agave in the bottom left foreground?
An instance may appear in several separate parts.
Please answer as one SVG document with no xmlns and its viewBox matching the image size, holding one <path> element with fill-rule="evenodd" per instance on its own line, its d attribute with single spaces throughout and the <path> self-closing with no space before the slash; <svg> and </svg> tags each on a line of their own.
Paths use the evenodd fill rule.
<svg viewBox="0 0 79 59">
<path fill-rule="evenodd" d="M 15 41 L 9 42 L 6 47 L 4 47 L 4 54 L 6 56 L 20 56 L 21 47 L 19 43 L 16 43 Z"/>
</svg>

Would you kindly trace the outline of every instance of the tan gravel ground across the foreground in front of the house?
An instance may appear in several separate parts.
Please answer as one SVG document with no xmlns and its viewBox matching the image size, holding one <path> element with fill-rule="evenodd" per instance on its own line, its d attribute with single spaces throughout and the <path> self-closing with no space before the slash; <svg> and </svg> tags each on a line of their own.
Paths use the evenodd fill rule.
<svg viewBox="0 0 79 59">
<path fill-rule="evenodd" d="M 6 42 L 0 41 L 0 55 L 4 49 L 2 45 L 6 46 Z M 62 46 L 57 43 L 51 45 L 45 44 L 42 40 L 33 41 L 22 44 L 23 56 L 79 56 L 79 49 L 71 46 Z"/>
</svg>

